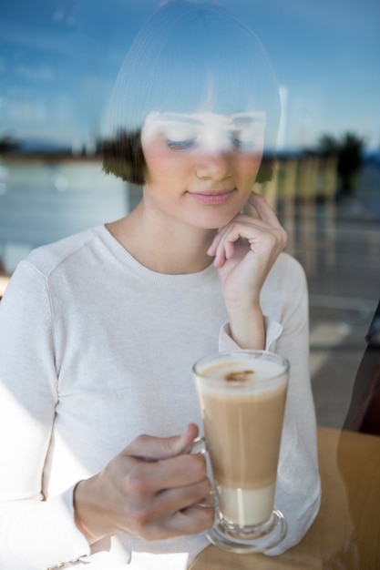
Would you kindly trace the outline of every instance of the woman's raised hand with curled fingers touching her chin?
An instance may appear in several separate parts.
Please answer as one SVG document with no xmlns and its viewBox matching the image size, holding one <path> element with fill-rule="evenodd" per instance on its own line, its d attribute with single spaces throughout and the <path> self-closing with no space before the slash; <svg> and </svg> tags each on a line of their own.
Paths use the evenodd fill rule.
<svg viewBox="0 0 380 570">
<path fill-rule="evenodd" d="M 236 325 L 232 335 L 238 343 L 247 345 L 245 348 L 262 348 L 251 346 L 255 342 L 248 337 L 241 340 L 245 332 L 236 329 L 246 328 L 250 311 L 255 317 L 258 315 L 262 285 L 286 245 L 287 234 L 265 198 L 252 192 L 249 203 L 258 218 L 235 216 L 215 236 L 208 254 L 215 256 L 214 265 L 220 272 L 230 323 Z"/>
</svg>

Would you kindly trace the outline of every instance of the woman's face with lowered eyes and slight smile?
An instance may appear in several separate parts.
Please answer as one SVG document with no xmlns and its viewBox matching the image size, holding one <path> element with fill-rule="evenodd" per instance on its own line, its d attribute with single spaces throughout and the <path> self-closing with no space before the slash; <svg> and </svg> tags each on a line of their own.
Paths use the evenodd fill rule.
<svg viewBox="0 0 380 570">
<path fill-rule="evenodd" d="M 205 229 L 226 225 L 252 192 L 264 127 L 262 113 L 151 113 L 141 131 L 145 205 Z"/>
</svg>

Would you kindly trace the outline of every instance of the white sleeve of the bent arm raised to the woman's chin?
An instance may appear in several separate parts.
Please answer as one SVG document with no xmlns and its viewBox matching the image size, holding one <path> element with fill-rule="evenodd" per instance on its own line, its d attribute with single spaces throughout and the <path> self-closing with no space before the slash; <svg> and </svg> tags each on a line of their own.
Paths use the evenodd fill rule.
<svg viewBox="0 0 380 570">
<path fill-rule="evenodd" d="M 266 321 L 266 350 L 278 352 L 291 364 L 282 430 L 275 508 L 288 524 L 282 543 L 267 555 L 281 555 L 297 545 L 313 524 L 321 503 L 316 418 L 309 371 L 309 304 L 302 266 L 289 256 L 282 265 L 279 321 Z M 280 281 L 277 281 L 280 282 Z M 276 285 L 277 289 L 277 285 Z M 277 293 L 276 293 L 277 295 Z M 277 313 L 276 313 L 277 317 Z M 220 350 L 239 350 L 229 335 L 228 324 L 220 334 Z"/>
</svg>

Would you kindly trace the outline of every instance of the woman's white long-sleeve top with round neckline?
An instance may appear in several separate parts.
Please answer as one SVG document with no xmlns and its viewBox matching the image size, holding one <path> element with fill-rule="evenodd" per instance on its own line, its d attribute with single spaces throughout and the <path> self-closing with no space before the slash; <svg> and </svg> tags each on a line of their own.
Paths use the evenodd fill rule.
<svg viewBox="0 0 380 570">
<path fill-rule="evenodd" d="M 301 266 L 276 261 L 262 289 L 266 348 L 291 362 L 275 507 L 297 544 L 320 503 L 309 379 L 308 300 Z M 141 433 L 200 422 L 194 361 L 236 347 L 218 271 L 163 275 L 104 226 L 36 249 L 0 302 L 0 568 L 36 570 L 83 557 L 94 570 L 182 570 L 205 534 L 91 548 L 74 523 L 76 483 Z M 129 565 L 128 565 L 129 564 Z M 67 564 L 67 567 L 71 564 Z"/>
</svg>

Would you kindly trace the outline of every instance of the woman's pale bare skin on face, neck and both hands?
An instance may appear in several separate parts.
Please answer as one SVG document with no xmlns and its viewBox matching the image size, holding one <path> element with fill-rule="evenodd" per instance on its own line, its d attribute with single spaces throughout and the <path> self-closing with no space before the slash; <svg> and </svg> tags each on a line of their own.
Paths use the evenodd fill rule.
<svg viewBox="0 0 380 570">
<path fill-rule="evenodd" d="M 264 117 L 152 113 L 141 132 L 147 164 L 143 198 L 108 230 L 150 270 L 219 270 L 231 336 L 263 349 L 262 285 L 286 244 L 275 213 L 252 187 L 260 168 Z M 241 214 L 249 202 L 257 212 Z M 198 427 L 181 435 L 142 435 L 97 475 L 77 484 L 76 523 L 88 543 L 112 534 L 159 540 L 200 533 L 213 509 L 206 463 L 189 450 Z"/>
</svg>

